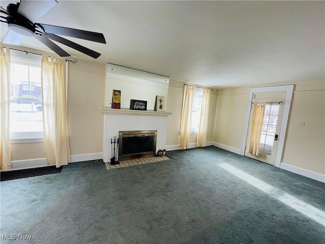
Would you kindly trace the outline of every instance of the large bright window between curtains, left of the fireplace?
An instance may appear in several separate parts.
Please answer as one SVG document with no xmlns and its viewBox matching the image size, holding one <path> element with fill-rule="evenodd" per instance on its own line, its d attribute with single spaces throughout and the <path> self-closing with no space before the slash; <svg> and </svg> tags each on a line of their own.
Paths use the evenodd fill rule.
<svg viewBox="0 0 325 244">
<path fill-rule="evenodd" d="M 11 50 L 10 87 L 12 142 L 40 141 L 43 138 L 41 55 Z"/>
</svg>

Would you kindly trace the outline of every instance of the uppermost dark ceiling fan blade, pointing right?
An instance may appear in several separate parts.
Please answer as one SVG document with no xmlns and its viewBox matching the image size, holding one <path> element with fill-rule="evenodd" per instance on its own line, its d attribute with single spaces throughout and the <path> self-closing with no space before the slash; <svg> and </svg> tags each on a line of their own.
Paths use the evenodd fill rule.
<svg viewBox="0 0 325 244">
<path fill-rule="evenodd" d="M 92 42 L 105 43 L 105 37 L 102 33 L 82 31 L 81 29 L 73 29 L 62 26 L 55 26 L 49 24 L 40 24 L 46 33 L 52 33 L 56 35 L 62 35 L 67 37 L 74 37 L 84 39 Z"/>
</svg>

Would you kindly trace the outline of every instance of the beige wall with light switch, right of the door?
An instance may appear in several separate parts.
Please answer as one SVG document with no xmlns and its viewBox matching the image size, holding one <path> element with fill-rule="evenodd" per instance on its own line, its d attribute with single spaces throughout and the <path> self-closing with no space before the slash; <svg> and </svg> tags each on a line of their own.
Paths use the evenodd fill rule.
<svg viewBox="0 0 325 244">
<path fill-rule="evenodd" d="M 290 108 L 283 163 L 325 174 L 325 82 L 297 83 Z M 298 126 L 305 122 L 305 126 Z"/>
</svg>

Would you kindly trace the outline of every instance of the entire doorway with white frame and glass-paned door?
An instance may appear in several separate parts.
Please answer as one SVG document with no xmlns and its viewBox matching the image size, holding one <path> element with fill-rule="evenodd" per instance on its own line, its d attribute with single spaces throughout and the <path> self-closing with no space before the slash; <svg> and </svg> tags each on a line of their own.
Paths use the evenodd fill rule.
<svg viewBox="0 0 325 244">
<path fill-rule="evenodd" d="M 250 88 L 241 155 L 280 167 L 293 85 Z M 256 151 L 248 152 L 254 104 L 265 107 Z M 255 155 L 256 154 L 256 155 Z"/>
</svg>

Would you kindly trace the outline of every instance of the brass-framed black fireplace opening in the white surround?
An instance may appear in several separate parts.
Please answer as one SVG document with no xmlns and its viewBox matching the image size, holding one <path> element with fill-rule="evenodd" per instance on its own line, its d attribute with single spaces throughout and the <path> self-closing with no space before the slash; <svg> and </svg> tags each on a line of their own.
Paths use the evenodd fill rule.
<svg viewBox="0 0 325 244">
<path fill-rule="evenodd" d="M 119 160 L 155 155 L 157 131 L 119 131 Z"/>
</svg>

